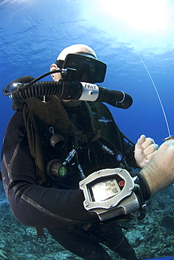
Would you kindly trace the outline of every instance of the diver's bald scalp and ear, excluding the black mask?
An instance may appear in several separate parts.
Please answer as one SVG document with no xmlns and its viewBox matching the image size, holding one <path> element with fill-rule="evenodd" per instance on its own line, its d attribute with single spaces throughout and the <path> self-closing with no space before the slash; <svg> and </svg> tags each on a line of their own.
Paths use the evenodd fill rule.
<svg viewBox="0 0 174 260">
<path fill-rule="evenodd" d="M 81 56 L 86 56 L 88 58 L 95 58 L 95 59 L 97 59 L 95 51 L 93 51 L 93 49 L 91 47 L 89 47 L 89 46 L 87 46 L 85 44 L 74 44 L 72 46 L 64 48 L 60 52 L 60 54 L 59 54 L 59 56 L 58 56 L 58 58 L 56 60 L 56 63 L 53 63 L 51 65 L 51 71 L 62 69 L 62 67 L 61 67 L 62 61 L 64 61 L 65 58 L 67 57 L 67 55 L 70 54 L 70 53 L 76 53 L 76 54 L 79 54 Z M 88 73 L 88 69 L 86 71 L 84 71 L 84 68 L 82 68 L 81 70 L 83 70 L 83 74 Z M 79 77 L 81 77 L 80 74 L 82 74 L 82 71 L 77 72 L 77 74 L 78 73 L 79 73 Z M 51 77 L 53 77 L 53 80 L 55 82 L 58 82 L 62 78 L 62 75 L 61 75 L 60 72 L 58 72 L 58 73 L 51 74 Z M 83 80 L 81 80 L 81 82 L 82 81 Z"/>
</svg>

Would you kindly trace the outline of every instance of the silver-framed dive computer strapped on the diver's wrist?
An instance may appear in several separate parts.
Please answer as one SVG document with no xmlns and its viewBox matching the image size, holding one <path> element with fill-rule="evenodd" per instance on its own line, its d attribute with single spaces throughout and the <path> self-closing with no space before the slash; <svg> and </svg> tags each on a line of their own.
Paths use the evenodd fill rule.
<svg viewBox="0 0 174 260">
<path fill-rule="evenodd" d="M 135 183 L 126 169 L 102 169 L 80 181 L 89 212 L 98 214 L 100 221 L 127 215 L 140 209 L 134 193 Z"/>
</svg>

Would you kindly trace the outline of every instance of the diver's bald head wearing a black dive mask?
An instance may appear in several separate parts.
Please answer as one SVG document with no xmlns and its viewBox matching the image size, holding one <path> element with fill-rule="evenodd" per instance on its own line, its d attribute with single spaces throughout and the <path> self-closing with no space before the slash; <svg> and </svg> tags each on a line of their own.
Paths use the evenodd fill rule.
<svg viewBox="0 0 174 260">
<path fill-rule="evenodd" d="M 51 72 L 54 70 L 62 70 L 62 68 L 72 68 L 75 73 L 69 75 L 69 80 L 74 82 L 96 83 L 103 82 L 107 66 L 100 60 L 93 49 L 85 44 L 75 44 L 62 50 L 55 61 L 51 65 Z M 58 82 L 62 79 L 62 73 L 56 72 L 51 74 L 53 80 Z M 80 100 L 62 100 L 66 105 L 78 105 Z"/>
</svg>

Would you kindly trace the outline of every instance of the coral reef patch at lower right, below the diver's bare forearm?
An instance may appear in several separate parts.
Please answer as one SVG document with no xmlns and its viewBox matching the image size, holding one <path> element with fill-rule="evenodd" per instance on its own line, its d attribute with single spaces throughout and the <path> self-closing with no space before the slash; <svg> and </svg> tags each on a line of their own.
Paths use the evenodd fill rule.
<svg viewBox="0 0 174 260">
<path fill-rule="evenodd" d="M 174 187 L 156 195 L 142 221 L 133 219 L 126 237 L 142 258 L 174 256 Z"/>
</svg>

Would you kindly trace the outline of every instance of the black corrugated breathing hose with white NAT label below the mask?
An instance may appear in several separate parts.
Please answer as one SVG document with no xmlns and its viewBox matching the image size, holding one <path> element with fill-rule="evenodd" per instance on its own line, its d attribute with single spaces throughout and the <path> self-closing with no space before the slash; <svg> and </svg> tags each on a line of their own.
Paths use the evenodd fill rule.
<svg viewBox="0 0 174 260">
<path fill-rule="evenodd" d="M 39 82 L 48 74 L 60 72 L 62 79 L 59 82 Z M 11 100 L 25 100 L 26 98 L 39 96 L 58 96 L 62 100 L 86 100 L 106 102 L 116 108 L 130 108 L 133 99 L 123 91 L 109 90 L 103 86 L 87 82 L 74 81 L 75 69 L 67 68 L 47 72 L 34 79 L 32 76 L 24 76 L 15 79 L 6 86 L 4 95 Z"/>
</svg>

